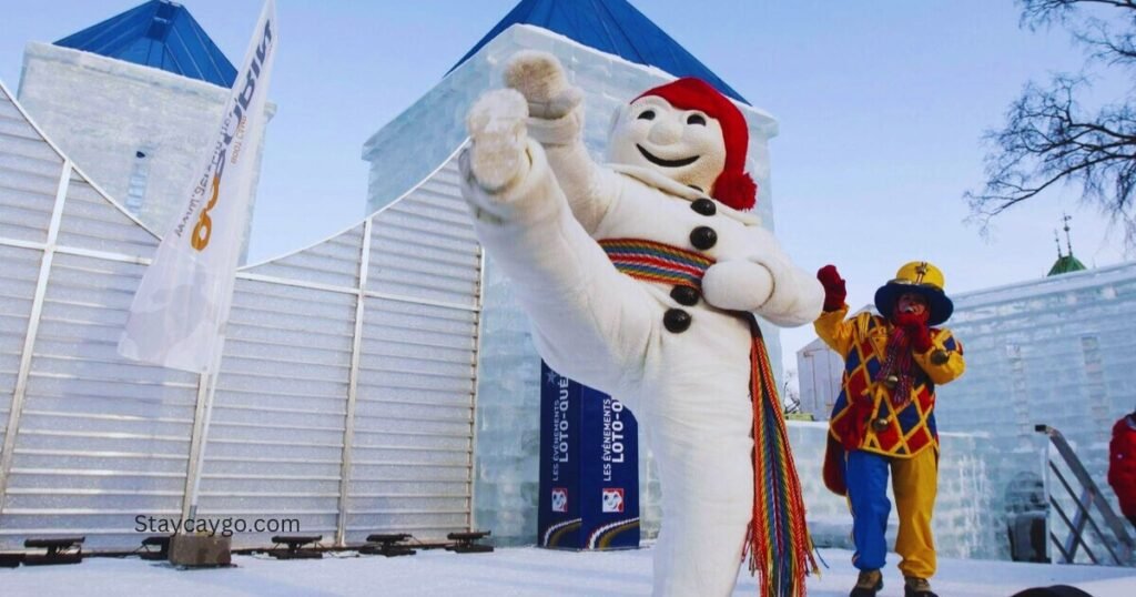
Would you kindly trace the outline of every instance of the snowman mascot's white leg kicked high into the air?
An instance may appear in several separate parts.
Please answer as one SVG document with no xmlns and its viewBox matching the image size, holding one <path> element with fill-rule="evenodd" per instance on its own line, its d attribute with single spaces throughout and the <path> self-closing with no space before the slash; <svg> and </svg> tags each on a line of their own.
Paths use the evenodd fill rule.
<svg viewBox="0 0 1136 597">
<path fill-rule="evenodd" d="M 504 109 L 491 106 L 487 117 L 478 110 L 482 101 L 470 113 L 474 144 L 460 166 L 477 237 L 512 282 L 549 365 L 634 409 L 636 397 L 626 389 L 643 373 L 649 338 L 661 321 L 651 308 L 657 301 L 620 274 L 573 217 L 543 149 L 523 130 L 517 134 L 523 117 L 517 109 L 510 116 L 508 103 L 518 98 L 496 98 Z"/>
</svg>

